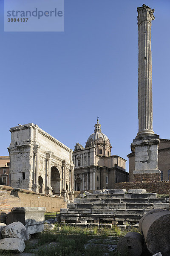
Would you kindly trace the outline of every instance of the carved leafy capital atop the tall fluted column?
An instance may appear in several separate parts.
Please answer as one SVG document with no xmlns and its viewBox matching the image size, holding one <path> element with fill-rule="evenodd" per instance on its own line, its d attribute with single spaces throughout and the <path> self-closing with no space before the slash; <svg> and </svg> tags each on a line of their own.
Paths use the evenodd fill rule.
<svg viewBox="0 0 170 256">
<path fill-rule="evenodd" d="M 138 26 L 145 20 L 150 21 L 150 23 L 152 20 L 155 20 L 155 17 L 153 16 L 154 11 L 155 10 L 151 9 L 149 6 L 145 6 L 145 4 L 143 4 L 142 7 L 138 7 Z"/>
</svg>

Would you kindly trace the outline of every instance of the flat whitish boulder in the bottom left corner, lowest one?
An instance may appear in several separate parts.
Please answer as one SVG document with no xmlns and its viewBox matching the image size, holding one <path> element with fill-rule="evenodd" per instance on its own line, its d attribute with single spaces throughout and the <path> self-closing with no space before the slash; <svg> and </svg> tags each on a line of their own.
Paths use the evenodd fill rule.
<svg viewBox="0 0 170 256">
<path fill-rule="evenodd" d="M 4 238 L 0 240 L 1 250 L 11 250 L 17 253 L 22 253 L 26 245 L 22 239 L 19 238 Z"/>
</svg>

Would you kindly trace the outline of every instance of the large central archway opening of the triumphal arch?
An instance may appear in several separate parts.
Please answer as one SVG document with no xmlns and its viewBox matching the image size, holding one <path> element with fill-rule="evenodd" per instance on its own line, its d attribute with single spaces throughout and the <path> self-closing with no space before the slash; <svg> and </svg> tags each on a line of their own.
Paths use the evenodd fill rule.
<svg viewBox="0 0 170 256">
<path fill-rule="evenodd" d="M 51 167 L 51 187 L 53 188 L 52 193 L 54 195 L 60 195 L 60 174 L 57 167 Z"/>
</svg>

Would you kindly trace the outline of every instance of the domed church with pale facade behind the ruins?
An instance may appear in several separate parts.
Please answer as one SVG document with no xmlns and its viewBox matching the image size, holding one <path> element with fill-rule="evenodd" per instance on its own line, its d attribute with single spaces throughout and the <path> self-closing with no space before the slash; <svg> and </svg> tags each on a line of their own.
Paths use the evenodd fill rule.
<svg viewBox="0 0 170 256">
<path fill-rule="evenodd" d="M 74 148 L 74 190 L 114 189 L 115 183 L 129 179 L 126 160 L 111 155 L 110 140 L 102 133 L 98 119 L 94 127 L 85 148 L 79 143 Z"/>
</svg>

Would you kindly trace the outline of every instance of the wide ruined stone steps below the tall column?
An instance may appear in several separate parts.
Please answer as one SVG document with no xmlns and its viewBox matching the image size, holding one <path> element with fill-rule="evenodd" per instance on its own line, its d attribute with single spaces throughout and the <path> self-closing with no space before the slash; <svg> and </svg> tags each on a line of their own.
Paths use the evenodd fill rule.
<svg viewBox="0 0 170 256">
<path fill-rule="evenodd" d="M 145 190 L 111 189 L 86 192 L 85 198 L 75 198 L 67 204 L 67 209 L 60 209 L 61 223 L 77 226 L 103 224 L 138 223 L 151 209 L 169 209 L 168 198 L 157 198 L 156 193 Z"/>
</svg>

